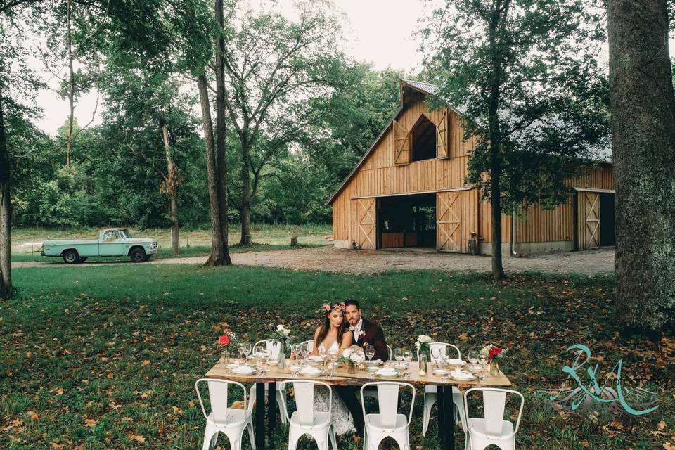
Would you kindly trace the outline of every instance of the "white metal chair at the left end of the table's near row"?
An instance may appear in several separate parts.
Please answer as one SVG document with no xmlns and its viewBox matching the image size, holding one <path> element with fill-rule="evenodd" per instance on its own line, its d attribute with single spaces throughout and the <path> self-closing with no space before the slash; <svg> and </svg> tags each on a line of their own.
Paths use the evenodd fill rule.
<svg viewBox="0 0 675 450">
<path fill-rule="evenodd" d="M 206 413 L 206 409 L 204 408 L 202 394 L 199 390 L 200 383 L 207 383 L 209 388 L 211 403 L 211 412 L 209 414 Z M 251 440 L 251 445 L 255 446 L 250 409 L 234 409 L 227 406 L 229 385 L 236 385 L 241 388 L 244 394 L 244 404 L 246 404 L 246 388 L 241 383 L 212 378 L 200 378 L 195 383 L 199 404 L 206 418 L 203 450 L 209 450 L 211 446 L 215 446 L 219 432 L 227 436 L 232 450 L 240 450 L 245 428 L 248 428 L 248 437 Z"/>
</svg>

